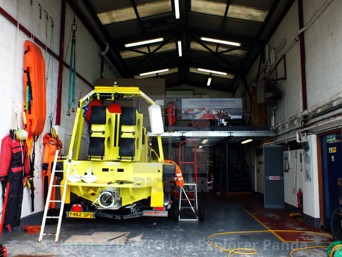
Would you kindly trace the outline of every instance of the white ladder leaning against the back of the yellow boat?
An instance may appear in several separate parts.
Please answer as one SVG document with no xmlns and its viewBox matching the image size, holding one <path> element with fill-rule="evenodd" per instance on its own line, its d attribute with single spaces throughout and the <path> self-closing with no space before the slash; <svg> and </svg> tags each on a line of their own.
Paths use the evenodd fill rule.
<svg viewBox="0 0 342 257">
<path fill-rule="evenodd" d="M 41 226 L 41 230 L 40 230 L 40 234 L 39 234 L 39 240 L 38 242 L 40 243 L 42 241 L 43 235 L 55 235 L 55 243 L 58 242 L 58 237 L 60 235 L 60 230 L 61 230 L 61 223 L 62 223 L 62 216 L 63 216 L 63 209 L 64 209 L 64 202 L 65 202 L 65 194 L 66 194 L 66 188 L 67 188 L 67 178 L 69 175 L 69 171 L 70 171 L 70 166 L 71 166 L 71 157 L 73 156 L 73 151 L 70 151 L 69 156 L 63 156 L 63 157 L 58 157 L 59 151 L 56 151 L 55 154 L 55 160 L 53 162 L 53 168 L 51 171 L 51 179 L 50 179 L 50 185 L 49 185 L 49 191 L 48 191 L 48 196 L 47 196 L 47 200 L 45 203 L 45 209 L 44 209 L 44 215 L 43 215 L 43 221 L 42 221 L 42 226 Z M 57 163 L 57 159 L 61 158 L 61 159 L 68 159 L 68 167 L 66 170 L 56 170 L 56 163 Z M 53 185 L 53 181 L 54 181 L 54 176 L 55 176 L 55 172 L 65 172 L 65 183 L 64 185 Z M 51 191 L 53 187 L 64 187 L 63 189 L 63 197 L 61 200 L 50 200 L 51 198 Z M 51 202 L 55 202 L 55 203 L 61 203 L 61 209 L 60 209 L 60 215 L 59 216 L 47 216 L 48 213 L 48 209 L 49 209 L 49 204 Z M 46 219 L 50 218 L 50 219 L 58 219 L 58 223 L 57 223 L 57 231 L 56 233 L 44 233 L 44 228 L 45 228 L 45 222 Z"/>
</svg>

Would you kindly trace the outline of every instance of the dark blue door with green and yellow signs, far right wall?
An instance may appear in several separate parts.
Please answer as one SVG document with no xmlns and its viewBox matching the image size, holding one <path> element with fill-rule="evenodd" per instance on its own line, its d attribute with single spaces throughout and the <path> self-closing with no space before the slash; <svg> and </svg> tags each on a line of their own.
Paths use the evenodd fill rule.
<svg viewBox="0 0 342 257">
<path fill-rule="evenodd" d="M 322 156 L 324 224 L 330 227 L 330 220 L 333 211 L 336 208 L 341 207 L 339 205 L 339 190 L 337 185 L 337 179 L 342 178 L 341 134 L 336 133 L 336 136 L 323 136 L 320 138 L 320 140 Z"/>
</svg>

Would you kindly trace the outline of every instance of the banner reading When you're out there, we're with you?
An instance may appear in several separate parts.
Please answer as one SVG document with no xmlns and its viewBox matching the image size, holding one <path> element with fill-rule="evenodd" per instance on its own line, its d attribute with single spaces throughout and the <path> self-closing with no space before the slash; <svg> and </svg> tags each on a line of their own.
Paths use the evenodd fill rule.
<svg viewBox="0 0 342 257">
<path fill-rule="evenodd" d="M 182 120 L 242 119 L 241 98 L 182 98 Z"/>
</svg>

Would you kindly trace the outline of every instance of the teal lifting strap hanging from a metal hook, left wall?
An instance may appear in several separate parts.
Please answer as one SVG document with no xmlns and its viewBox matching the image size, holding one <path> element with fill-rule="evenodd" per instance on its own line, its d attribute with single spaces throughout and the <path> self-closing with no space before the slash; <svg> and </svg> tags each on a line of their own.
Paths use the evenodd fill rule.
<svg viewBox="0 0 342 257">
<path fill-rule="evenodd" d="M 75 29 L 74 29 L 75 26 Z M 71 53 L 70 53 L 70 70 L 69 70 L 69 94 L 68 94 L 68 112 L 66 115 L 70 116 L 71 105 L 75 106 L 75 87 L 76 87 L 76 30 L 77 25 L 74 23 L 71 25 L 71 30 L 73 31 L 73 35 L 71 37 Z M 74 67 L 73 67 L 73 57 L 74 57 Z M 73 90 L 72 90 L 72 100 L 70 101 L 71 95 L 71 73 L 73 72 Z M 71 102 L 71 104 L 70 104 Z M 75 112 L 75 107 L 73 107 L 71 112 Z"/>
</svg>

